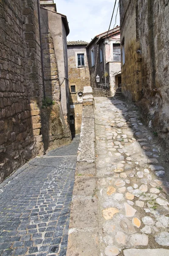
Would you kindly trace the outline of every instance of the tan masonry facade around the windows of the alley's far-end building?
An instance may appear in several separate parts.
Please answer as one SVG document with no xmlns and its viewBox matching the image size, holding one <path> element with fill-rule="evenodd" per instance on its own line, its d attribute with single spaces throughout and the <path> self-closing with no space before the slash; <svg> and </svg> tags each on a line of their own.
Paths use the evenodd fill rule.
<svg viewBox="0 0 169 256">
<path fill-rule="evenodd" d="M 85 67 L 78 67 L 78 53 L 84 53 Z M 78 93 L 83 92 L 85 86 L 90 86 L 90 73 L 85 46 L 68 45 L 68 77 L 70 93 L 70 114 L 72 114 L 74 117 L 75 133 L 77 134 L 80 132 L 82 123 L 82 102 L 79 102 L 78 100 Z M 76 93 L 71 93 L 71 85 L 75 85 Z"/>
</svg>

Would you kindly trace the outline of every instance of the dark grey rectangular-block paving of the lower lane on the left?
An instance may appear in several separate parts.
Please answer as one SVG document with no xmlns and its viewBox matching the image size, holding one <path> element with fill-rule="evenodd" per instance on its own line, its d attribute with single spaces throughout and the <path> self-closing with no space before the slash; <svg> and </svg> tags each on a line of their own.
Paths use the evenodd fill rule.
<svg viewBox="0 0 169 256">
<path fill-rule="evenodd" d="M 79 136 L 0 184 L 0 255 L 66 255 L 78 145 Z"/>
</svg>

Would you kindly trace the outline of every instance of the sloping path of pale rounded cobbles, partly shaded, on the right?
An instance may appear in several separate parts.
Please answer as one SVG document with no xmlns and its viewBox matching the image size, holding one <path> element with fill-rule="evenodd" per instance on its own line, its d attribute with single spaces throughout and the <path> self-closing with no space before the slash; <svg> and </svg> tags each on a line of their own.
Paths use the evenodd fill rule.
<svg viewBox="0 0 169 256">
<path fill-rule="evenodd" d="M 95 123 L 101 256 L 169 255 L 169 166 L 155 135 L 118 97 L 95 98 Z"/>
</svg>

